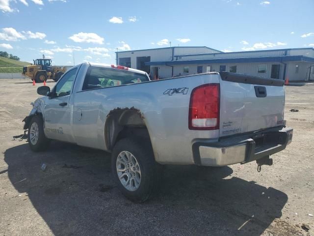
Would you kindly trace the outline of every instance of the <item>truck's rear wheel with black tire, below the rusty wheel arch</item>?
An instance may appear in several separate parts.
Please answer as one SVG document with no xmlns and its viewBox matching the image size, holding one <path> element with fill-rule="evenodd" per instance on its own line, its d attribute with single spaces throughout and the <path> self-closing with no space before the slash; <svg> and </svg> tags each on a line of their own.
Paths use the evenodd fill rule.
<svg viewBox="0 0 314 236">
<path fill-rule="evenodd" d="M 119 190 L 135 203 L 152 197 L 160 178 L 152 147 L 143 140 L 118 141 L 112 151 L 111 171 Z"/>
</svg>

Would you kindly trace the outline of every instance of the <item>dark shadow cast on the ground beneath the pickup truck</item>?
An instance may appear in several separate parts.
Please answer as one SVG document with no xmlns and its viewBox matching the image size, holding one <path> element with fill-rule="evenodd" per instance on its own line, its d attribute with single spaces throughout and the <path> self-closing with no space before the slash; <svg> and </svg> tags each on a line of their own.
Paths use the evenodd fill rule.
<svg viewBox="0 0 314 236">
<path fill-rule="evenodd" d="M 288 200 L 229 167 L 166 166 L 157 196 L 133 204 L 112 183 L 108 153 L 60 142 L 40 153 L 9 148 L 4 160 L 54 235 L 259 236 Z"/>
</svg>

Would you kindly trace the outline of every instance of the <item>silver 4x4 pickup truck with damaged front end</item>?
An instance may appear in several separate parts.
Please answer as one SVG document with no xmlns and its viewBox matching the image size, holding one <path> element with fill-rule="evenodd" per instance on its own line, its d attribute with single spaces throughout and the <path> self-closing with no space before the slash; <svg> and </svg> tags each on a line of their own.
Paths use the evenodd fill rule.
<svg viewBox="0 0 314 236">
<path fill-rule="evenodd" d="M 54 88 L 37 89 L 24 121 L 32 150 L 50 140 L 112 154 L 118 188 L 134 202 L 152 196 L 164 164 L 227 166 L 286 148 L 282 80 L 229 72 L 150 81 L 124 66 L 82 63 Z"/>
</svg>

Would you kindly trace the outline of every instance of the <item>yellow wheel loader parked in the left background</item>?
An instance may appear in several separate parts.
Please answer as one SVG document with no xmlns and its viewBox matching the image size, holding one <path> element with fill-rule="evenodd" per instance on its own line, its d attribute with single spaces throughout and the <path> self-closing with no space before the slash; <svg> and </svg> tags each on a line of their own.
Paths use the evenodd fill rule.
<svg viewBox="0 0 314 236">
<path fill-rule="evenodd" d="M 26 75 L 36 83 L 43 83 L 47 79 L 58 81 L 67 70 L 66 66 L 52 66 L 51 59 L 36 59 L 34 64 L 23 67 L 23 75 Z"/>
</svg>

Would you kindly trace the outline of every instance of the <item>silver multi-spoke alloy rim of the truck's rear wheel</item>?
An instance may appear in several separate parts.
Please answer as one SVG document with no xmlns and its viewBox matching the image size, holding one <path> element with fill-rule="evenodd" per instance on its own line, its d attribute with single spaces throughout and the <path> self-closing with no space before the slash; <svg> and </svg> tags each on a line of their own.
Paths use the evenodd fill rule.
<svg viewBox="0 0 314 236">
<path fill-rule="evenodd" d="M 141 169 L 135 156 L 129 151 L 121 151 L 116 161 L 117 174 L 122 186 L 135 191 L 141 184 Z"/>
</svg>

